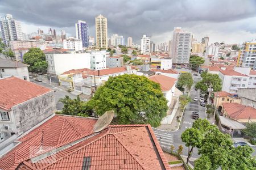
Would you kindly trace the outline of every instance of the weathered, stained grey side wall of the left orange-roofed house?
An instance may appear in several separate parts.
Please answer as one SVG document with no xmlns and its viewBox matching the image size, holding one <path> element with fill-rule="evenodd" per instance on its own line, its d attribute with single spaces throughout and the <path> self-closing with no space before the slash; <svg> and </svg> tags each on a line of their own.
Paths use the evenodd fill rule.
<svg viewBox="0 0 256 170">
<path fill-rule="evenodd" d="M 20 135 L 30 130 L 33 126 L 51 116 L 55 110 L 55 94 L 53 91 L 15 105 L 12 111 L 18 134 Z"/>
</svg>

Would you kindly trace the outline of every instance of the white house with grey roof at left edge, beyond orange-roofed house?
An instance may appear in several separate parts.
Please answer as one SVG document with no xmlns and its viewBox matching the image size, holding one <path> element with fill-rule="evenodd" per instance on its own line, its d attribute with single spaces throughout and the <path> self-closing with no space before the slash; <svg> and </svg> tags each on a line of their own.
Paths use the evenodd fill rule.
<svg viewBox="0 0 256 170">
<path fill-rule="evenodd" d="M 0 58 L 0 79 L 9 76 L 16 76 L 20 79 L 29 81 L 30 78 L 28 76 L 27 67 L 28 65 L 24 63 Z"/>
</svg>

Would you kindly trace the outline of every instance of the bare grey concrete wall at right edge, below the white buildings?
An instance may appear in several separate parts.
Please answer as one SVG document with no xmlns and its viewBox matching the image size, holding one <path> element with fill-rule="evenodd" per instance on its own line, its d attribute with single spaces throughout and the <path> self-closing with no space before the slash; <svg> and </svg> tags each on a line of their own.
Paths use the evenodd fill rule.
<svg viewBox="0 0 256 170">
<path fill-rule="evenodd" d="M 241 104 L 256 108 L 256 88 L 240 88 L 237 94 L 242 99 Z"/>
</svg>

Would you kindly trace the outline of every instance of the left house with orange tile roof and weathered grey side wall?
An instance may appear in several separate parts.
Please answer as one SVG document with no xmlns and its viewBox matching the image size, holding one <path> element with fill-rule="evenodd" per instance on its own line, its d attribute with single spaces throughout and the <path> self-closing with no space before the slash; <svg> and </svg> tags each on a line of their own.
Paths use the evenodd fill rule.
<svg viewBox="0 0 256 170">
<path fill-rule="evenodd" d="M 56 110 L 54 91 L 14 76 L 0 79 L 0 155 Z M 0 166 L 0 168 L 2 168 Z"/>
</svg>

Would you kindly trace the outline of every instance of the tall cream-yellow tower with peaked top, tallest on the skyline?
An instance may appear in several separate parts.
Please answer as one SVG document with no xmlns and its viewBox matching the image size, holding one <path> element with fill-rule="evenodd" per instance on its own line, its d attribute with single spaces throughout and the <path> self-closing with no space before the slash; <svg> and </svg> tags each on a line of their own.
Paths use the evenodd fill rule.
<svg viewBox="0 0 256 170">
<path fill-rule="evenodd" d="M 95 18 L 96 27 L 96 47 L 97 48 L 108 48 L 108 20 L 99 15 Z"/>
</svg>

